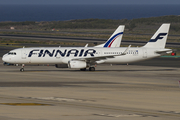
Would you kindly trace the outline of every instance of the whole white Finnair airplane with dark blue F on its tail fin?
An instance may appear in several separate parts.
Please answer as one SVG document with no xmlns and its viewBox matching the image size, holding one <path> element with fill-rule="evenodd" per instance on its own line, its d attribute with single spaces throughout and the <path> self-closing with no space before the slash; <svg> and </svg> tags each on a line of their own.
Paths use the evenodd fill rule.
<svg viewBox="0 0 180 120">
<path fill-rule="evenodd" d="M 107 44 L 107 41 L 97 47 L 19 48 L 5 54 L 2 60 L 22 64 L 20 71 L 24 71 L 24 64 L 55 64 L 56 68 L 75 68 L 82 71 L 89 68 L 89 71 L 95 71 L 96 64 L 131 63 L 171 53 L 171 49 L 165 48 L 169 28 L 169 23 L 162 24 L 142 47 L 108 47 L 111 42 Z"/>
</svg>

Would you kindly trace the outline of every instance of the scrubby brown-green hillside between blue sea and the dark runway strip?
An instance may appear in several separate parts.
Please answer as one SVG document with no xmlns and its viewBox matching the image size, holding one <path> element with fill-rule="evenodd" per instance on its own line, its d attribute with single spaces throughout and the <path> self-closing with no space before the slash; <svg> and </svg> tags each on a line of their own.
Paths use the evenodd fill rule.
<svg viewBox="0 0 180 120">
<path fill-rule="evenodd" d="M 51 35 L 107 40 L 119 25 L 125 25 L 123 40 L 149 41 L 163 23 L 171 23 L 168 42 L 179 42 L 180 16 L 174 15 L 131 20 L 80 19 L 69 21 L 0 22 L 0 34 Z M 15 30 L 10 30 L 10 28 L 15 28 Z M 4 43 L 7 41 L 5 38 L 1 39 L 1 42 L 2 40 Z"/>
</svg>

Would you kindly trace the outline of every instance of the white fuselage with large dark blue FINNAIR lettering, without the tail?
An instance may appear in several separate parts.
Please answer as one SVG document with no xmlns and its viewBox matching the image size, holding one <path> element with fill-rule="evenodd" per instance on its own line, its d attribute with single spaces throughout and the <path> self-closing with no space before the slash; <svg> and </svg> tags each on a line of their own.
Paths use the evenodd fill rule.
<svg viewBox="0 0 180 120">
<path fill-rule="evenodd" d="M 161 49 L 134 47 L 130 48 L 126 55 L 122 53 L 126 50 L 119 48 L 101 47 L 38 47 L 38 48 L 19 48 L 5 54 L 3 61 L 14 64 L 67 64 L 72 59 L 98 58 L 112 56 L 97 60 L 96 63 L 130 63 L 146 60 L 160 56 L 155 51 Z"/>
</svg>

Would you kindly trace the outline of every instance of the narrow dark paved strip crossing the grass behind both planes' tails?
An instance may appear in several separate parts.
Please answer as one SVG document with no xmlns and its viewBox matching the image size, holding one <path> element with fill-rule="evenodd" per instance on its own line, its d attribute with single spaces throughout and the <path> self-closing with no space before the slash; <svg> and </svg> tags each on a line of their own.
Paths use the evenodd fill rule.
<svg viewBox="0 0 180 120">
<path fill-rule="evenodd" d="M 151 35 L 150 35 L 151 36 Z M 178 36 L 178 35 L 176 35 Z M 78 38 L 78 37 L 62 37 L 62 36 L 44 36 L 44 35 L 14 35 L 14 34 L 0 34 L 1 38 L 15 38 L 15 39 L 29 39 L 29 40 L 51 40 L 61 42 L 81 42 L 81 43 L 103 43 L 106 39 L 95 39 L 95 38 Z M 147 41 L 134 41 L 134 40 L 123 40 L 122 45 L 145 45 Z M 167 42 L 166 47 L 180 47 L 179 42 Z"/>
</svg>

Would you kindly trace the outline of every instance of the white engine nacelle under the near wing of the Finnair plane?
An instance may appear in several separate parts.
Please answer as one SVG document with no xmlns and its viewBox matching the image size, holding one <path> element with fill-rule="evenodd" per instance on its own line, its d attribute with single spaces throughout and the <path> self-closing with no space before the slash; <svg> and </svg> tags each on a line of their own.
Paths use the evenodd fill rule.
<svg viewBox="0 0 180 120">
<path fill-rule="evenodd" d="M 68 62 L 69 68 L 86 68 L 87 63 L 85 61 L 73 60 Z"/>
</svg>

